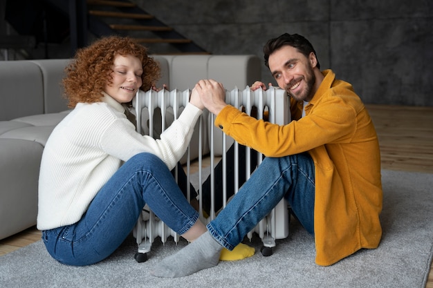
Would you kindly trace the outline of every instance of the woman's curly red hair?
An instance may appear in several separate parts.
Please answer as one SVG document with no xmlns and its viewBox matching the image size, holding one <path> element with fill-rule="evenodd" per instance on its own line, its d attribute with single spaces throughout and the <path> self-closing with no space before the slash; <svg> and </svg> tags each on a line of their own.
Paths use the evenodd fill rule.
<svg viewBox="0 0 433 288">
<path fill-rule="evenodd" d="M 149 90 L 160 77 L 158 62 L 147 55 L 147 48 L 129 37 L 109 36 L 95 41 L 91 46 L 77 50 L 74 60 L 66 66 L 63 79 L 68 107 L 74 108 L 79 102 L 100 102 L 102 91 L 111 83 L 116 55 L 131 55 L 142 63 L 142 86 Z"/>
</svg>

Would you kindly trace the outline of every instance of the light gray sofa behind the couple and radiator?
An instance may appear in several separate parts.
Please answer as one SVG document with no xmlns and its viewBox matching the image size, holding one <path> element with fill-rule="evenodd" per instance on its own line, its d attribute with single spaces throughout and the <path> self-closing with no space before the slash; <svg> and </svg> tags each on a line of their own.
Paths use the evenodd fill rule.
<svg viewBox="0 0 433 288">
<path fill-rule="evenodd" d="M 260 60 L 254 55 L 154 58 L 163 72 L 158 85 L 168 84 L 170 90 L 193 88 L 203 78 L 221 81 L 230 90 L 243 89 L 260 78 Z M 42 151 L 55 125 L 68 113 L 61 86 L 68 61 L 0 61 L 0 239 L 36 224 Z M 210 135 L 203 137 L 206 154 Z M 192 145 L 198 140 L 193 135 Z"/>
</svg>

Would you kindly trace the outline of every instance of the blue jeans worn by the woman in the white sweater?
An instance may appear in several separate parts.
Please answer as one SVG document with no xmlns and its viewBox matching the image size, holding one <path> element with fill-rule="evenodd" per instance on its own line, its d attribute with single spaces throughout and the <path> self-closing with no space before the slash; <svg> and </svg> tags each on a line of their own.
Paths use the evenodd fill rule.
<svg viewBox="0 0 433 288">
<path fill-rule="evenodd" d="M 66 265 L 107 258 L 127 238 L 145 204 L 179 234 L 199 218 L 155 155 L 140 153 L 123 164 L 95 196 L 80 221 L 42 232 L 46 249 Z"/>
</svg>

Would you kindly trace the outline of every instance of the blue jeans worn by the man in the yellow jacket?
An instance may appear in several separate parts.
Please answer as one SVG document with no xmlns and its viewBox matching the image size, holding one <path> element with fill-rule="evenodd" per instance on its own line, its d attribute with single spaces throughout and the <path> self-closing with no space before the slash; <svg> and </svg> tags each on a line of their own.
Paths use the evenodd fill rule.
<svg viewBox="0 0 433 288">
<path fill-rule="evenodd" d="M 265 157 L 225 209 L 207 225 L 208 230 L 223 247 L 232 250 L 284 197 L 302 226 L 314 234 L 314 169 L 308 153 Z"/>
</svg>

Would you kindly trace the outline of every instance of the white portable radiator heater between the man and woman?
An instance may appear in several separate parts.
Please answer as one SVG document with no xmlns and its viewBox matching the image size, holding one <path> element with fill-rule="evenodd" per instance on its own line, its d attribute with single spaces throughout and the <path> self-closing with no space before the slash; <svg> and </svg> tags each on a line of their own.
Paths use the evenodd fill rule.
<svg viewBox="0 0 433 288">
<path fill-rule="evenodd" d="M 191 95 L 191 90 L 148 90 L 147 92 L 139 91 L 133 100 L 133 106 L 135 108 L 136 119 L 137 119 L 137 131 L 142 134 L 148 134 L 151 137 L 158 137 L 158 133 L 165 130 L 165 126 L 168 126 L 173 119 L 176 119 L 178 115 L 181 114 L 182 109 L 186 106 L 187 102 L 189 102 Z M 270 87 L 268 90 L 262 90 L 259 88 L 258 90 L 252 91 L 247 86 L 244 90 L 239 90 L 238 88 L 234 88 L 233 90 L 226 90 L 225 92 L 225 102 L 234 107 L 239 108 L 243 112 L 251 115 L 252 111 L 255 110 L 255 114 L 257 119 L 263 119 L 264 115 L 267 116 L 268 119 L 266 121 L 275 123 L 275 124 L 288 124 L 291 119 L 290 115 L 290 101 L 286 92 L 280 88 Z M 203 124 L 203 119 L 206 119 L 208 125 Z M 222 131 L 217 128 L 214 128 L 214 115 L 209 113 L 206 109 L 203 111 L 203 114 L 199 118 L 199 121 L 196 125 L 198 126 L 199 133 L 199 151 L 198 153 L 194 153 L 198 155 L 198 159 L 190 159 L 191 158 L 191 145 L 188 147 L 187 152 L 185 153 L 185 173 L 187 175 L 187 182 L 190 182 L 190 164 L 192 161 L 199 162 L 199 171 L 196 172 L 199 175 L 199 189 L 198 191 L 202 191 L 201 184 L 205 180 L 205 177 L 210 177 L 210 193 L 212 203 L 210 213 L 206 215 L 203 213 L 203 204 L 202 204 L 202 195 L 199 193 L 199 215 L 200 219 L 203 223 L 207 224 L 211 220 L 216 217 L 216 213 L 214 212 L 214 183 L 216 181 L 221 181 L 223 183 L 223 191 L 217 191 L 221 193 L 223 198 L 223 207 L 227 204 L 227 194 L 226 194 L 226 155 L 225 151 L 228 150 L 228 146 L 234 145 L 234 191 L 237 192 L 239 187 L 239 183 L 237 182 L 237 173 L 239 170 L 239 159 L 237 157 L 237 148 L 239 144 L 235 142 L 231 137 L 226 136 Z M 169 119 L 169 120 L 167 120 Z M 144 125 L 143 125 L 144 124 Z M 210 135 L 209 139 L 209 148 L 210 148 L 210 174 L 205 176 L 204 167 L 202 164 L 203 160 L 203 135 Z M 215 155 L 215 147 L 219 148 L 219 154 Z M 222 151 L 222 153 L 221 153 Z M 252 173 L 250 171 L 250 155 L 251 149 L 246 148 L 246 179 Z M 257 165 L 261 163 L 263 159 L 263 155 L 261 153 L 255 153 L 257 155 Z M 212 167 L 215 166 L 215 157 L 220 158 L 223 164 L 223 173 L 222 179 L 215 179 L 214 169 Z M 178 168 L 176 168 L 178 169 Z M 207 169 L 206 171 L 208 171 Z M 177 177 L 175 177 L 177 180 Z M 189 187 L 188 187 L 189 188 Z M 190 189 L 187 191 L 187 199 L 190 199 Z M 222 208 L 223 209 L 223 208 Z M 250 233 L 248 233 L 247 237 L 251 240 L 254 233 L 261 238 L 263 242 L 263 247 L 261 248 L 261 253 L 264 256 L 270 256 L 272 254 L 272 247 L 275 247 L 275 239 L 283 239 L 288 236 L 288 223 L 290 220 L 290 215 L 288 213 L 288 203 L 286 200 L 281 200 L 277 207 L 273 209 L 257 226 L 255 229 L 252 229 Z M 138 244 L 138 252 L 135 255 L 135 258 L 138 262 L 144 262 L 147 260 L 147 252 L 151 249 L 151 244 L 154 240 L 159 236 L 161 241 L 165 243 L 169 236 L 173 237 L 173 240 L 177 243 L 179 240 L 179 236 L 169 229 L 167 225 L 158 219 L 156 215 L 145 207 L 143 209 L 142 215 L 137 221 L 136 227 L 133 229 L 133 236 L 136 238 L 136 242 Z"/>
</svg>

